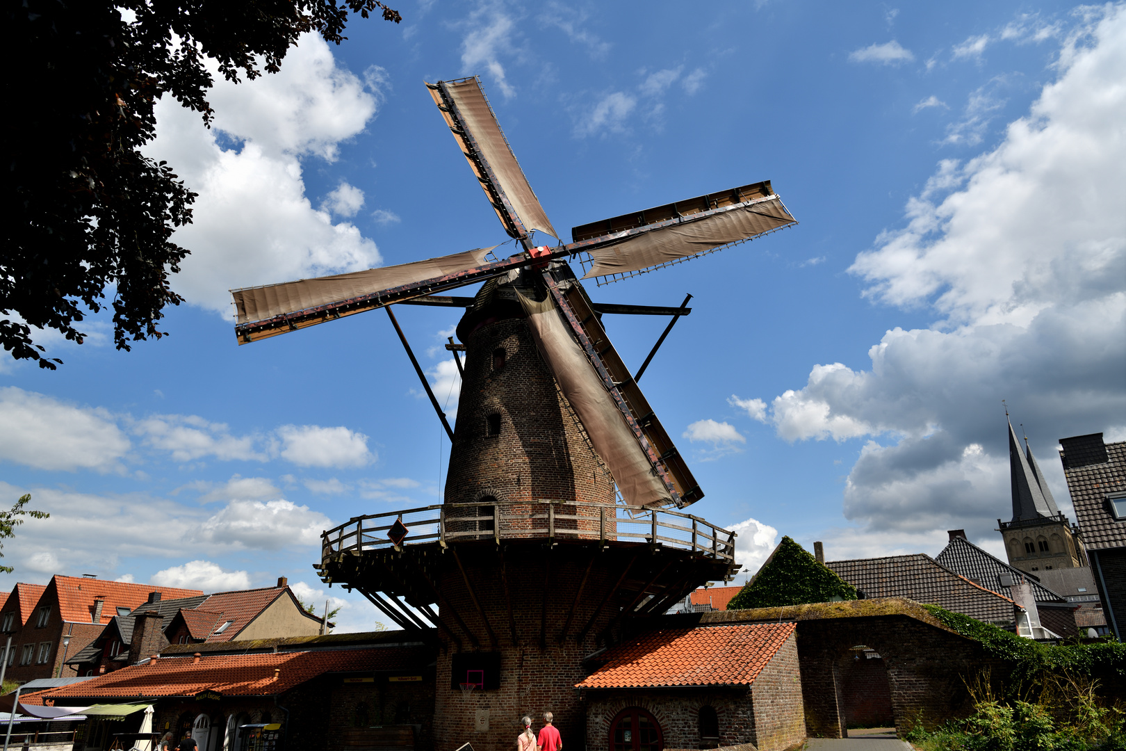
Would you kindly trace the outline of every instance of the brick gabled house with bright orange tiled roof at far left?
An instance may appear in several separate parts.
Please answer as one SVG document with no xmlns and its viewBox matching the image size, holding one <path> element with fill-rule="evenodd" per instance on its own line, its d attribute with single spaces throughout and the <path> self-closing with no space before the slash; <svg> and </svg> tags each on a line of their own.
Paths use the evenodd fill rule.
<svg viewBox="0 0 1126 751">
<path fill-rule="evenodd" d="M 29 605 L 34 585 L 16 584 L 0 611 L 0 625 L 9 614 L 19 614 L 12 615 L 10 622 L 12 651 L 6 678 L 23 683 L 35 678 L 56 678 L 60 673 L 63 678 L 73 677 L 73 669 L 63 665 L 68 655 L 100 636 L 115 616 L 128 615 L 153 590 L 164 597 L 203 594 L 194 589 L 56 574 Z"/>
</svg>

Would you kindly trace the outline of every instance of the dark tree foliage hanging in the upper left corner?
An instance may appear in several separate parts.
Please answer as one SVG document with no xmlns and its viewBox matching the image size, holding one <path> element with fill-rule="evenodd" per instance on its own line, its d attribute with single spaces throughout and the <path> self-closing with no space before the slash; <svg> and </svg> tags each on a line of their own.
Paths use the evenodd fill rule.
<svg viewBox="0 0 1126 751">
<path fill-rule="evenodd" d="M 338 5 L 339 2 L 339 5 Z M 141 153 L 163 95 L 213 118 L 205 57 L 230 81 L 277 72 L 306 32 L 339 44 L 348 14 L 400 15 L 378 0 L 7 0 L 9 60 L 0 342 L 55 368 L 32 327 L 81 343 L 77 324 L 113 288 L 114 340 L 164 336 L 171 242 L 196 194 Z M 21 319 L 21 320 L 20 320 Z"/>
</svg>

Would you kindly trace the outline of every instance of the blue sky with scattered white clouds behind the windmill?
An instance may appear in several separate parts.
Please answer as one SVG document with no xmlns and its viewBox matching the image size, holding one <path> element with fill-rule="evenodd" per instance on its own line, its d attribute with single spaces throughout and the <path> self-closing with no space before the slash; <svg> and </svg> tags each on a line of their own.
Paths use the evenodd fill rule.
<svg viewBox="0 0 1126 751">
<path fill-rule="evenodd" d="M 1070 511 L 1061 437 L 1126 438 L 1126 10 L 1067 3 L 402 2 L 279 74 L 162 102 L 200 194 L 159 342 L 91 318 L 65 365 L 0 363 L 0 491 L 52 513 L 11 581 L 223 589 L 312 575 L 321 529 L 437 502 L 449 444 L 382 312 L 235 346 L 231 287 L 507 240 L 422 81 L 480 74 L 554 225 L 770 179 L 794 229 L 606 287 L 678 305 L 642 386 L 754 566 L 1001 552 L 1006 399 Z M 399 307 L 440 400 L 456 313 Z M 665 321 L 615 316 L 640 365 Z"/>
</svg>

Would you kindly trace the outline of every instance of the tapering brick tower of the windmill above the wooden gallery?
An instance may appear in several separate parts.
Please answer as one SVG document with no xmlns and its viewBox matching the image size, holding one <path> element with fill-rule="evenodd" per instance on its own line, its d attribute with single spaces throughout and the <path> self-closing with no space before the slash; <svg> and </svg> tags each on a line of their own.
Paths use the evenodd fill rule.
<svg viewBox="0 0 1126 751">
<path fill-rule="evenodd" d="M 524 319 L 481 325 L 465 342 L 465 377 L 446 475 L 447 503 L 540 499 L 614 503 L 611 476 L 590 449 Z M 493 367 L 493 352 L 504 365 Z M 500 415 L 489 436 L 486 417 Z"/>
</svg>

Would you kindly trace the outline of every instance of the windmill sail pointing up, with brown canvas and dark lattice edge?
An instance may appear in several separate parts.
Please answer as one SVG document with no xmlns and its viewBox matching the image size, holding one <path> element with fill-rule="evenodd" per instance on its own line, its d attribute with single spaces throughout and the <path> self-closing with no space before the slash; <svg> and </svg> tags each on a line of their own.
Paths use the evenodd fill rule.
<svg viewBox="0 0 1126 751">
<path fill-rule="evenodd" d="M 477 79 L 427 83 L 427 88 L 509 235 L 519 238 L 527 230 L 539 230 L 558 238 Z"/>
</svg>

